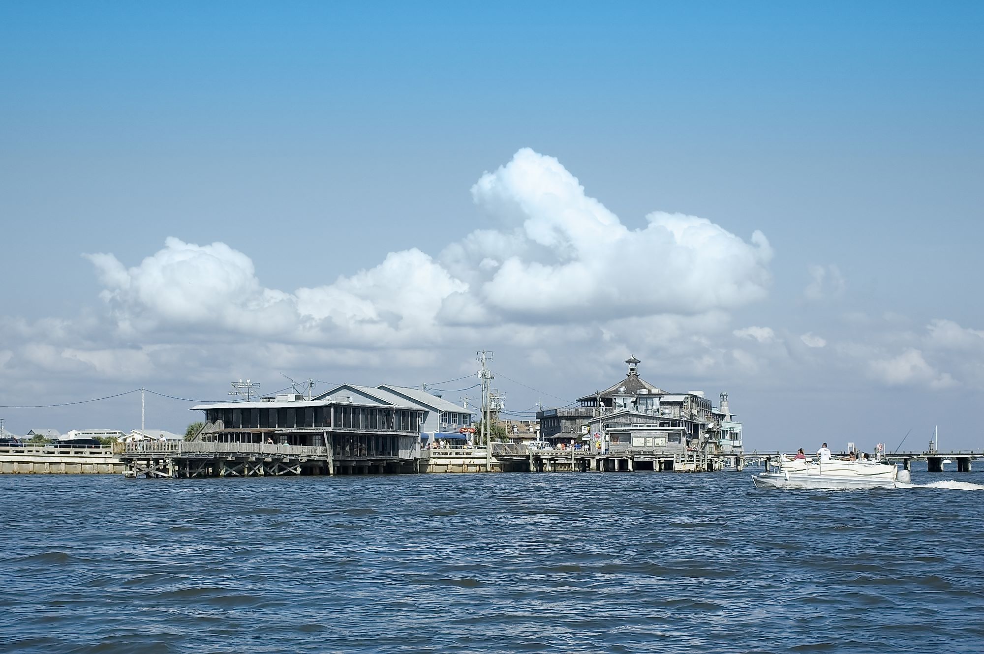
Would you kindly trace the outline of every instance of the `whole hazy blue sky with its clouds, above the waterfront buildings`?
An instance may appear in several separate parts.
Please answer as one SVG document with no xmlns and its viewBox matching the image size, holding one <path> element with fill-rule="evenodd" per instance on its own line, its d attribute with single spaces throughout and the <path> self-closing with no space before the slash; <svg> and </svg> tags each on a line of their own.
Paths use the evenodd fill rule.
<svg viewBox="0 0 984 654">
<path fill-rule="evenodd" d="M 212 398 L 281 372 L 438 382 L 493 349 L 539 389 L 503 381 L 523 411 L 607 386 L 634 353 L 657 386 L 729 391 L 750 446 L 939 424 L 984 447 L 968 420 L 984 388 L 979 3 L 608 5 L 0 4 L 0 404 Z M 514 175 L 561 174 L 551 157 L 624 240 L 565 268 L 574 231 L 560 247 L 469 237 L 556 227 Z M 560 214 L 584 209 L 562 186 Z M 646 232 L 653 211 L 738 242 L 691 262 L 695 242 Z M 770 257 L 750 263 L 757 230 Z M 496 256 L 456 249 L 478 241 Z M 619 278 L 619 252 L 651 281 Z M 522 274 L 496 276 L 508 260 Z M 411 268 L 430 295 L 394 290 Z M 525 292 L 548 277 L 553 292 Z M 567 292 L 583 303 L 555 306 Z M 274 313 L 203 310 L 230 293 Z M 340 320 L 338 293 L 369 313 Z M 610 301 L 633 293 L 631 311 Z M 0 416 L 132 429 L 134 406 Z M 154 404 L 156 426 L 183 428 L 186 408 Z"/>
</svg>

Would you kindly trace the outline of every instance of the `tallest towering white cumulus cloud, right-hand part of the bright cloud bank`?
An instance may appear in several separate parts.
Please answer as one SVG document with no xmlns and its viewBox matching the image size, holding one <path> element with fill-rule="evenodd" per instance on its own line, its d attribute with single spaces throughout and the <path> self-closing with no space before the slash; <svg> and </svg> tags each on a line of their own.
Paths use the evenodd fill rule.
<svg viewBox="0 0 984 654">
<path fill-rule="evenodd" d="M 772 252 L 761 232 L 746 243 L 706 218 L 661 211 L 629 229 L 556 158 L 531 149 L 471 193 L 504 229 L 475 232 L 441 259 L 461 266 L 462 252 L 489 253 L 495 267 L 463 274 L 476 301 L 517 320 L 692 315 L 767 294 Z"/>
</svg>

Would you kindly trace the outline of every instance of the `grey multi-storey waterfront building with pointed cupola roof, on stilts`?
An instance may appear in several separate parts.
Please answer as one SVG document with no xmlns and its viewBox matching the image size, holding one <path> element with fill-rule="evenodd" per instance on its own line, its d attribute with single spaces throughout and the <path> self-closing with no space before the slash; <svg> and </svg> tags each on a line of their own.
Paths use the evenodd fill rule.
<svg viewBox="0 0 984 654">
<path fill-rule="evenodd" d="M 578 398 L 580 406 L 537 413 L 541 439 L 553 445 L 582 444 L 593 451 L 652 453 L 662 469 L 688 463 L 701 469 L 708 455 L 740 453 L 741 423 L 730 413 L 727 393 L 718 407 L 703 390 L 670 392 L 639 376 L 639 359 L 616 384 Z"/>
</svg>

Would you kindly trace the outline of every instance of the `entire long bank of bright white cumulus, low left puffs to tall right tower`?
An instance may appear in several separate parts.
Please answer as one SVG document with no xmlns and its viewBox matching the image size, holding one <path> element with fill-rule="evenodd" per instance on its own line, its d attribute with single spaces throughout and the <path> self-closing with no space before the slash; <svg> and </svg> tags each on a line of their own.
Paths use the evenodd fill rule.
<svg viewBox="0 0 984 654">
<path fill-rule="evenodd" d="M 392 252 L 313 287 L 266 288 L 249 256 L 224 243 L 171 237 L 132 268 L 112 254 L 87 257 L 130 336 L 218 329 L 408 346 L 462 329 L 702 316 L 767 294 L 771 248 L 761 232 L 745 242 L 705 218 L 663 212 L 629 229 L 556 158 L 531 149 L 482 175 L 471 194 L 495 228 L 471 232 L 437 259 Z"/>
</svg>

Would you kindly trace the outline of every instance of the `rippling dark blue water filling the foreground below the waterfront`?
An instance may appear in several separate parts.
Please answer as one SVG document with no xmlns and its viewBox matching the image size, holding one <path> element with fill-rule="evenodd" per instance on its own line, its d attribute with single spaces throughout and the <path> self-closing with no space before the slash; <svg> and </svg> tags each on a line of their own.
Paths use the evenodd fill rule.
<svg viewBox="0 0 984 654">
<path fill-rule="evenodd" d="M 982 652 L 984 474 L 913 483 L 4 475 L 0 651 Z"/>
</svg>

